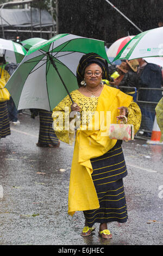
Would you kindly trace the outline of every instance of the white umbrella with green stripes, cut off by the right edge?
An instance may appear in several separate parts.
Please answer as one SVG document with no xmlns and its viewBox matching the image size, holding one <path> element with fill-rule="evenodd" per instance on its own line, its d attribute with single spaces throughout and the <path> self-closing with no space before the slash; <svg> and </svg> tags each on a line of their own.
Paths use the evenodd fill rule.
<svg viewBox="0 0 163 256">
<path fill-rule="evenodd" d="M 117 54 L 117 59 L 163 57 L 163 27 L 142 32 L 131 39 Z"/>
</svg>

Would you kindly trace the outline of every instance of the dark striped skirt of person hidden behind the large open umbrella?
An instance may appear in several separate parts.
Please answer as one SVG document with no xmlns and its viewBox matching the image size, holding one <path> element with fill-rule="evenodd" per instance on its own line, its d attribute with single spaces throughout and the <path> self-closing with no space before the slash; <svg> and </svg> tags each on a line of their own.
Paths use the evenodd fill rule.
<svg viewBox="0 0 163 256">
<path fill-rule="evenodd" d="M 40 131 L 39 131 L 39 143 L 57 145 L 59 140 L 55 135 L 52 124 L 52 112 L 46 110 L 39 111 L 40 116 Z"/>
</svg>

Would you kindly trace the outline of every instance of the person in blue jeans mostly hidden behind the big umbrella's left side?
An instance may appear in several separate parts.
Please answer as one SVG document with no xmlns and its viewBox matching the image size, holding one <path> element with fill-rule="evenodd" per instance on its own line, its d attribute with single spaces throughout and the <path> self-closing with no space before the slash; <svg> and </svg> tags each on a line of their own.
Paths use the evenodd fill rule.
<svg viewBox="0 0 163 256">
<path fill-rule="evenodd" d="M 7 70 L 9 75 L 11 76 L 13 72 L 16 70 L 16 68 L 17 68 L 17 64 L 11 62 L 5 65 L 4 69 Z M 10 123 L 14 125 L 20 124 L 20 121 L 17 118 L 17 109 L 15 107 L 15 103 L 12 100 L 11 96 L 10 96 L 10 100 L 8 100 L 7 102 L 7 106 L 8 106 Z"/>
</svg>

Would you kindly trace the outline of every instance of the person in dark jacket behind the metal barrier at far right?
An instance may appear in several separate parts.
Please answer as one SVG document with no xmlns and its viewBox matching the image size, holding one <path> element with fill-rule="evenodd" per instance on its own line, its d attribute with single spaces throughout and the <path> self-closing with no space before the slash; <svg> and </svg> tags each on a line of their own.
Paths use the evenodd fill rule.
<svg viewBox="0 0 163 256">
<path fill-rule="evenodd" d="M 143 58 L 137 59 L 139 62 L 139 67 L 137 69 L 137 74 L 139 76 L 138 87 L 147 88 L 141 89 L 139 93 L 139 101 L 148 102 L 159 102 L 162 97 L 161 90 L 152 90 L 150 88 L 161 89 L 162 85 L 162 72 L 158 65 L 153 63 L 147 63 Z M 151 108 L 151 105 L 146 104 L 141 107 L 142 119 L 145 123 L 146 132 L 143 135 L 146 137 L 151 137 L 153 122 L 155 118 L 155 111 Z"/>
</svg>

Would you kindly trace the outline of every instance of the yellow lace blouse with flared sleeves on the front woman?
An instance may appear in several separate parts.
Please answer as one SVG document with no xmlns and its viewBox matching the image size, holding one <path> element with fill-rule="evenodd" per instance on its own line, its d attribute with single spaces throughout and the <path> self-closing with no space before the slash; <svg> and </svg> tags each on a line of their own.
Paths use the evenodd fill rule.
<svg viewBox="0 0 163 256">
<path fill-rule="evenodd" d="M 89 123 L 89 120 L 91 119 L 93 113 L 96 111 L 96 107 L 97 107 L 97 103 L 98 103 L 98 98 L 99 97 L 87 97 L 85 95 L 83 95 L 82 93 L 79 92 L 79 90 L 74 90 L 71 93 L 72 99 L 74 102 L 76 102 L 78 104 L 78 106 L 80 106 L 81 109 L 81 117 L 80 117 L 80 124 L 82 125 L 84 122 L 83 118 L 82 118 L 82 112 L 89 112 L 88 115 L 86 115 L 86 122 Z M 70 99 L 70 97 L 67 95 L 65 97 L 65 99 L 63 99 L 59 105 L 57 107 L 55 107 L 53 109 L 53 113 L 56 112 L 64 112 L 65 111 L 65 106 L 68 107 L 68 115 L 71 112 L 71 105 L 72 105 L 72 101 Z M 128 107 L 128 124 L 133 124 L 134 125 L 134 132 L 136 133 L 139 130 L 140 127 L 140 123 L 141 123 L 141 111 L 139 106 L 132 101 Z M 52 115 L 53 119 L 54 118 L 54 114 Z M 63 123 L 61 121 L 61 119 L 63 120 Z M 62 127 L 64 127 L 64 123 L 65 123 L 65 115 L 60 115 L 57 119 L 57 126 L 55 126 L 55 134 L 57 135 L 57 137 L 60 139 L 60 141 L 68 143 L 68 144 L 72 144 L 72 142 L 74 141 L 74 130 L 65 130 L 62 129 Z M 53 123 L 54 124 L 54 123 Z M 56 123 L 55 123 L 56 124 Z M 60 125 L 61 124 L 61 125 Z M 54 126 L 53 126 L 54 128 Z"/>
</svg>

